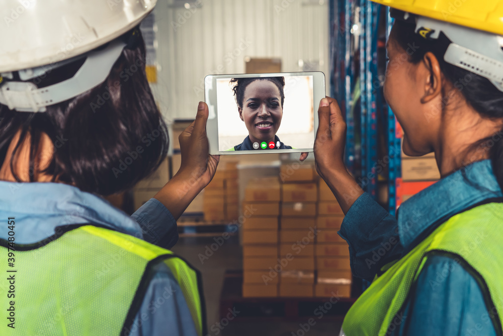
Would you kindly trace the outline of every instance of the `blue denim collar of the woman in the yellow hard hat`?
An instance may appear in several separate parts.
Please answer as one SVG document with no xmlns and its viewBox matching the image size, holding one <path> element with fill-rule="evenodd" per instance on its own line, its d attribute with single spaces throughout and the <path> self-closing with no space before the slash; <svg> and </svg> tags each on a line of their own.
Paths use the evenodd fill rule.
<svg viewBox="0 0 503 336">
<path fill-rule="evenodd" d="M 453 215 L 502 195 L 490 160 L 468 165 L 418 192 L 397 214 L 404 253 Z"/>
</svg>

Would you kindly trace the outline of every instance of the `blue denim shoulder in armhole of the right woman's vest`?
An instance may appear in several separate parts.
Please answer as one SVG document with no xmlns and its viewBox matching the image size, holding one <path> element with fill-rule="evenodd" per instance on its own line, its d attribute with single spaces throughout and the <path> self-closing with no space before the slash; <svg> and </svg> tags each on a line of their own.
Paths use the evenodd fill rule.
<svg viewBox="0 0 503 336">
<path fill-rule="evenodd" d="M 465 334 L 472 329 L 495 335 L 494 312 L 491 317 L 477 279 L 466 264 L 447 255 L 427 257 L 399 314 L 405 323 L 394 335 Z"/>
</svg>

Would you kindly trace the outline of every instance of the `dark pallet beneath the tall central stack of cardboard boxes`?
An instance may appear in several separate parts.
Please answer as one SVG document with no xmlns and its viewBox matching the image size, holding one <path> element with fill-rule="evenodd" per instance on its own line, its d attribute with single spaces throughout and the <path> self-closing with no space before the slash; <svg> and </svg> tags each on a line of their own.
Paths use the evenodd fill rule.
<svg viewBox="0 0 503 336">
<path fill-rule="evenodd" d="M 242 271 L 226 271 L 220 295 L 219 314 L 223 319 L 233 309 L 239 311 L 233 321 L 284 321 L 320 318 L 320 306 L 329 303 L 330 298 L 320 297 L 265 297 L 243 298 Z M 356 298 L 340 298 L 336 304 L 327 304 L 323 320 L 342 321 Z"/>
</svg>

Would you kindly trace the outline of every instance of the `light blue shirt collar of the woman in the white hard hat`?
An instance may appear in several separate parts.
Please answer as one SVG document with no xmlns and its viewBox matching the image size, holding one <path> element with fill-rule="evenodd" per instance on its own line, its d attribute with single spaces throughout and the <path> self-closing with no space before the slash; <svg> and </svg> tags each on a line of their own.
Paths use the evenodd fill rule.
<svg viewBox="0 0 503 336">
<path fill-rule="evenodd" d="M 15 217 L 16 243 L 30 244 L 55 234 L 55 228 L 71 224 L 98 224 L 142 238 L 141 228 L 126 213 L 100 196 L 62 183 L 0 181 L 0 219 Z M 6 239 L 8 230 L 0 230 Z"/>
</svg>

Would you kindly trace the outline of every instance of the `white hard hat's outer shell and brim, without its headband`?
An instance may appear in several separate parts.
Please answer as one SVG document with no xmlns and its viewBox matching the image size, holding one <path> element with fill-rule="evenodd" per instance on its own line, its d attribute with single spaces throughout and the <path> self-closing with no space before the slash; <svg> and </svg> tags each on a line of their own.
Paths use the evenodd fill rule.
<svg viewBox="0 0 503 336">
<path fill-rule="evenodd" d="M 2 0 L 0 73 L 85 53 L 127 32 L 157 0 Z"/>
</svg>

